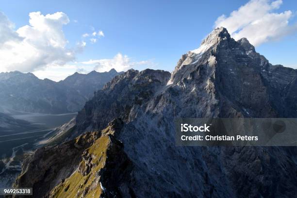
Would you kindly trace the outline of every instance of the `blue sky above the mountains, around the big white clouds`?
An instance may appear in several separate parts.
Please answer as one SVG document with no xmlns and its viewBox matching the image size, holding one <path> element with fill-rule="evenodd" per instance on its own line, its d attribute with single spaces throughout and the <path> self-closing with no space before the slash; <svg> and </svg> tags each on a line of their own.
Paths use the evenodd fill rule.
<svg viewBox="0 0 297 198">
<path fill-rule="evenodd" d="M 278 30 L 277 35 L 267 35 L 265 41 L 255 40 L 255 42 L 259 43 L 256 50 L 272 64 L 297 68 L 295 58 L 297 55 L 297 31 L 295 28 L 297 1 L 254 1 L 262 1 L 258 3 L 274 6 L 263 15 L 291 12 L 287 17 L 289 23 L 282 30 Z M 272 4 L 274 1 L 278 1 L 275 3 L 277 5 Z M 230 23 L 239 20 L 240 16 L 238 18 L 234 16 L 229 23 L 226 18 L 228 19 L 232 11 L 238 10 L 240 6 L 248 2 L 248 0 L 213 0 L 211 3 L 198 0 L 27 0 L 15 2 L 3 0 L 0 11 L 15 25 L 14 30 L 30 25 L 29 13 L 32 12 L 40 12 L 40 15 L 43 16 L 63 12 L 68 17 L 69 21 L 62 27 L 67 41 L 63 48 L 74 50 L 78 43 L 82 42 L 85 42 L 85 46 L 82 49 L 75 49 L 73 52 L 75 54 L 69 59 L 59 57 L 63 59 L 59 62 L 61 70 L 55 69 L 55 71 L 60 71 L 60 75 L 56 75 L 52 70 L 47 71 L 47 68 L 53 64 L 52 61 L 42 63 L 43 66 L 20 67 L 19 69 L 23 72 L 35 72 L 40 78 L 48 77 L 53 80 L 61 80 L 77 70 L 82 73 L 94 68 L 103 71 L 121 63 L 126 66 L 118 67 L 118 69 L 150 67 L 172 71 L 181 55 L 198 48 L 201 40 L 214 29 L 216 24 L 219 24 L 216 23 L 219 16 L 224 14 L 225 19 L 222 24 L 231 25 Z M 261 17 L 262 14 L 259 15 L 259 19 Z M 273 20 L 275 21 L 275 19 Z M 247 23 L 252 23 L 252 21 Z M 278 24 L 272 25 L 277 26 Z M 283 31 L 284 29 L 288 30 Z M 99 31 L 102 31 L 104 36 L 82 36 L 85 33 L 91 35 L 93 32 L 98 33 Z M 287 33 L 288 31 L 290 33 Z M 236 33 L 238 31 L 234 33 L 234 36 L 245 35 Z M 90 41 L 92 38 L 97 39 L 96 43 Z M 50 51 L 45 53 L 50 53 Z M 17 68 L 17 66 L 7 66 L 6 71 Z"/>
</svg>

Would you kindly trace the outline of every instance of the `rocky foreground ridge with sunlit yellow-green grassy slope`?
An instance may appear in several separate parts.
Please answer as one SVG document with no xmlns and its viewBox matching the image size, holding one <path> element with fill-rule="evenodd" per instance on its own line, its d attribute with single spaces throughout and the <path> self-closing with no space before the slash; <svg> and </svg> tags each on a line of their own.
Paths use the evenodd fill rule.
<svg viewBox="0 0 297 198">
<path fill-rule="evenodd" d="M 32 186 L 36 198 L 129 194 L 132 163 L 115 138 L 122 126 L 123 122 L 115 119 L 100 132 L 87 132 L 59 146 L 36 150 L 14 185 Z"/>
</svg>

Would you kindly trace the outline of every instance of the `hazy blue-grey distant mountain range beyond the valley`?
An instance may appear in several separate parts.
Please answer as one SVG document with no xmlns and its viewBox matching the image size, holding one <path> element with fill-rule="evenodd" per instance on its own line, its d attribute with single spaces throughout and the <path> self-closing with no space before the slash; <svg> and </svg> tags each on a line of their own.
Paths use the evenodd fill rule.
<svg viewBox="0 0 297 198">
<path fill-rule="evenodd" d="M 103 87 L 121 72 L 92 71 L 75 73 L 65 80 L 54 82 L 40 80 L 32 73 L 19 71 L 0 73 L 0 112 L 32 112 L 62 114 L 81 110 L 93 97 L 94 91 Z"/>
</svg>

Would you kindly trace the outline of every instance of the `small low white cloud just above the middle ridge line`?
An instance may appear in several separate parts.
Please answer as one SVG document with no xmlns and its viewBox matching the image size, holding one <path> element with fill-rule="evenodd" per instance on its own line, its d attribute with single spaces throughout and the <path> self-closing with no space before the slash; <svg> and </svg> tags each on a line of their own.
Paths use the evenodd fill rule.
<svg viewBox="0 0 297 198">
<path fill-rule="evenodd" d="M 94 70 L 99 72 L 109 71 L 114 68 L 116 71 L 127 71 L 139 66 L 154 66 L 151 61 L 132 61 L 127 55 L 117 53 L 112 59 L 89 60 L 82 62 L 85 65 L 94 65 Z"/>
</svg>

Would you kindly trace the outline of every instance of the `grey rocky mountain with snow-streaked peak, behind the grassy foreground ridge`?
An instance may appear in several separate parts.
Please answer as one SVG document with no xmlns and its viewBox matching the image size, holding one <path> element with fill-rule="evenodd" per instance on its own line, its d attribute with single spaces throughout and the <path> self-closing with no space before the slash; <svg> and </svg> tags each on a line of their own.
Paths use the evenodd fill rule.
<svg viewBox="0 0 297 198">
<path fill-rule="evenodd" d="M 132 164 L 125 197 L 294 197 L 296 148 L 176 147 L 174 119 L 297 117 L 296 77 L 294 69 L 269 64 L 247 39 L 235 41 L 218 28 L 171 74 L 116 76 L 85 104 L 68 137 L 102 130 L 115 117 L 124 121 L 116 139 Z"/>
</svg>

